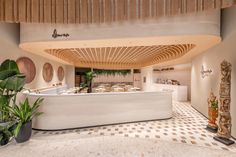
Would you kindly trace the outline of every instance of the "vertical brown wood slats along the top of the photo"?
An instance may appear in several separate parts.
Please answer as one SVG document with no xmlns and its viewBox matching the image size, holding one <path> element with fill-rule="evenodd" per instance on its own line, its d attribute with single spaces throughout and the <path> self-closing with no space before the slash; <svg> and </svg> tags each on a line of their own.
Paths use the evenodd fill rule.
<svg viewBox="0 0 236 157">
<path fill-rule="evenodd" d="M 0 21 L 110 23 L 236 5 L 236 0 L 0 0 Z"/>
</svg>

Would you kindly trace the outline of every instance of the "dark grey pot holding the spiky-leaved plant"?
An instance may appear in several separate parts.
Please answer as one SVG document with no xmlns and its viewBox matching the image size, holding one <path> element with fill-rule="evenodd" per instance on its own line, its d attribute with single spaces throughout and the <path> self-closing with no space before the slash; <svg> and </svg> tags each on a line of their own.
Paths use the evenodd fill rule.
<svg viewBox="0 0 236 157">
<path fill-rule="evenodd" d="M 23 143 L 30 139 L 32 134 L 32 121 L 22 125 L 19 134 L 17 135 L 16 142 Z"/>
</svg>

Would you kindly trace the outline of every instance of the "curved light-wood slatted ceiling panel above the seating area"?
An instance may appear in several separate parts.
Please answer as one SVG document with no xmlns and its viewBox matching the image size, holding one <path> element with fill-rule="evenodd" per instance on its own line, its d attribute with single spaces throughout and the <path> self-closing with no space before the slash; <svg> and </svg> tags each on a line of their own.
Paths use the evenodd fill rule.
<svg viewBox="0 0 236 157">
<path fill-rule="evenodd" d="M 179 58 L 193 49 L 193 44 L 133 47 L 47 49 L 48 54 L 77 67 L 103 69 L 141 68 Z"/>
</svg>

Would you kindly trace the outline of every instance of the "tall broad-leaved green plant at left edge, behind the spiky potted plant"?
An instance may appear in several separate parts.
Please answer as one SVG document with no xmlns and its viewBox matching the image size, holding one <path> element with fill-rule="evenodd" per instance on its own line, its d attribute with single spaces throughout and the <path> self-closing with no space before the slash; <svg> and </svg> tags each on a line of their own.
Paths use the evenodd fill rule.
<svg viewBox="0 0 236 157">
<path fill-rule="evenodd" d="M 5 60 L 0 65 L 0 126 L 6 126 L 12 120 L 5 109 L 15 104 L 17 93 L 24 85 L 25 75 L 20 73 L 16 62 Z"/>
</svg>

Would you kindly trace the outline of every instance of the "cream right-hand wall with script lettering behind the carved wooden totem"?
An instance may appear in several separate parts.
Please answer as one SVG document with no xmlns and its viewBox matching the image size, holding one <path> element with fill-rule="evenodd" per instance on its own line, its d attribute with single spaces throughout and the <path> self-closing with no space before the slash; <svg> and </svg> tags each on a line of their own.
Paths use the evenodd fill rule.
<svg viewBox="0 0 236 157">
<path fill-rule="evenodd" d="M 236 7 L 223 10 L 221 33 L 222 43 L 197 56 L 192 62 L 192 106 L 207 116 L 207 98 L 210 90 L 212 89 L 219 97 L 220 63 L 223 60 L 229 61 L 232 64 L 232 135 L 236 137 Z M 206 69 L 212 69 L 212 75 L 203 79 L 200 75 L 202 65 Z"/>
</svg>

